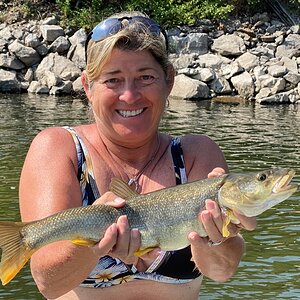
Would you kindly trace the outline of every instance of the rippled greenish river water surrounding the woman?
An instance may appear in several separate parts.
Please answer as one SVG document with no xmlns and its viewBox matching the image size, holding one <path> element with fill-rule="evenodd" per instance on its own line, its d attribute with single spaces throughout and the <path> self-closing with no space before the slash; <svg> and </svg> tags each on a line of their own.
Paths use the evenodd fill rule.
<svg viewBox="0 0 300 300">
<path fill-rule="evenodd" d="M 18 180 L 33 137 L 48 126 L 86 123 L 88 115 L 85 100 L 78 98 L 0 95 L 0 220 L 20 218 Z M 161 129 L 209 135 L 231 171 L 293 167 L 300 183 L 300 106 L 171 99 Z M 299 199 L 297 192 L 259 216 L 257 229 L 243 232 L 247 251 L 236 275 L 226 283 L 204 279 L 199 299 L 300 299 Z M 28 264 L 0 286 L 0 299 L 43 299 Z"/>
</svg>

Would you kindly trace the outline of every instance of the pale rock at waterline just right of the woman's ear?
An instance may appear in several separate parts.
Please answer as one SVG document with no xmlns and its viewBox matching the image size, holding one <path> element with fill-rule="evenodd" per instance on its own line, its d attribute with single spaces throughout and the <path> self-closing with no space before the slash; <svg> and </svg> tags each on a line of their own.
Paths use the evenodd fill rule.
<svg viewBox="0 0 300 300">
<path fill-rule="evenodd" d="M 175 77 L 170 96 L 183 99 L 208 99 L 209 88 L 205 83 L 181 74 Z"/>
</svg>

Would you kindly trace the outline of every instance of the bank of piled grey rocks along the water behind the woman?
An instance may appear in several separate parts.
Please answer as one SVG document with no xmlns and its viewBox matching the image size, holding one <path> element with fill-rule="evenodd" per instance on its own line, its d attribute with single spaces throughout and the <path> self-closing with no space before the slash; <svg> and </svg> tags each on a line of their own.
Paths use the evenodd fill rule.
<svg viewBox="0 0 300 300">
<path fill-rule="evenodd" d="M 0 92 L 81 93 L 86 32 L 55 17 L 0 24 Z M 191 100 L 239 96 L 261 104 L 300 104 L 300 26 L 267 13 L 216 27 L 168 31 L 176 69 L 172 97 Z"/>
</svg>

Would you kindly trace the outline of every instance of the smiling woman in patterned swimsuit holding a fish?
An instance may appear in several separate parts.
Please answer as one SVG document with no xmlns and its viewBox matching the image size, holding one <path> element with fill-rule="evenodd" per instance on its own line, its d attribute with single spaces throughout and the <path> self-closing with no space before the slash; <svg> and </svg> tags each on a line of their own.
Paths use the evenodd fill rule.
<svg viewBox="0 0 300 300">
<path fill-rule="evenodd" d="M 113 16 L 94 28 L 82 83 L 95 122 L 48 128 L 33 140 L 20 181 L 23 221 L 82 205 L 121 207 L 125 201 L 109 192 L 113 177 L 147 193 L 227 171 L 208 137 L 174 139 L 158 132 L 174 80 L 167 47 L 163 29 L 139 13 Z M 255 227 L 255 219 L 238 217 L 246 229 Z M 50 299 L 197 299 L 202 275 L 228 280 L 244 251 L 236 225 L 223 240 L 214 201 L 207 200 L 199 222 L 207 238 L 191 232 L 188 248 L 155 249 L 137 258 L 140 233 L 121 216 L 94 247 L 67 241 L 43 247 L 32 257 L 31 271 Z"/>
</svg>

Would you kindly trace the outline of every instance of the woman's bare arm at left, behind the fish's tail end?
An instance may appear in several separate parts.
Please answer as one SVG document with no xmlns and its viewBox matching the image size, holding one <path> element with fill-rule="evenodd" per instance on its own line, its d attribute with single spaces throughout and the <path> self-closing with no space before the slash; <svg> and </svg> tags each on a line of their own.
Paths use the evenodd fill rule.
<svg viewBox="0 0 300 300">
<path fill-rule="evenodd" d="M 33 140 L 23 166 L 20 180 L 22 220 L 41 219 L 81 205 L 73 139 L 64 129 L 46 129 Z M 31 271 L 41 293 L 47 298 L 56 298 L 78 286 L 99 257 L 114 246 L 116 237 L 117 227 L 113 224 L 96 250 L 67 241 L 38 250 L 32 256 Z"/>
</svg>

